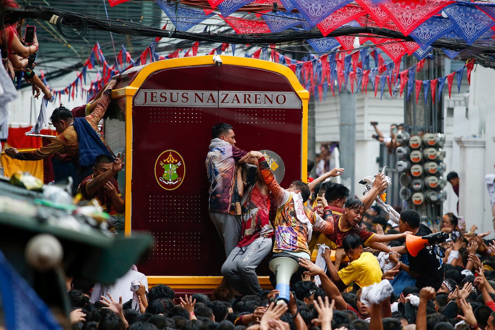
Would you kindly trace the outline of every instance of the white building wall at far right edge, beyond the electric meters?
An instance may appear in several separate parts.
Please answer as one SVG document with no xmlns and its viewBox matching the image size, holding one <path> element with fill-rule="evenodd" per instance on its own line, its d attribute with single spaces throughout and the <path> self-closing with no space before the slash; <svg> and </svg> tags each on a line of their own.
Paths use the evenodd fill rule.
<svg viewBox="0 0 495 330">
<path fill-rule="evenodd" d="M 494 231 L 484 183 L 485 174 L 493 173 L 495 164 L 495 94 L 491 84 L 494 80 L 493 69 L 477 66 L 471 73 L 469 93 L 457 95 L 453 86 L 451 99 L 448 95 L 444 99 L 447 173 L 459 173 L 459 213 L 464 213 L 460 215 L 465 216 L 467 224 L 476 224 L 480 231 Z M 480 145 L 484 148 L 480 149 Z M 450 185 L 446 189 L 444 211 L 456 213 L 457 196 Z"/>
</svg>

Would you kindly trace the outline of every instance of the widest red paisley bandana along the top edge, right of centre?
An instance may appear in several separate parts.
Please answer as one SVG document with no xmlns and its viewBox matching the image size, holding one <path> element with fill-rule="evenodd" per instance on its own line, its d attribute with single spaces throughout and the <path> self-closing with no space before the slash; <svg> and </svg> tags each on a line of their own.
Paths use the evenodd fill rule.
<svg viewBox="0 0 495 330">
<path fill-rule="evenodd" d="M 404 36 L 454 1 L 445 0 L 385 0 L 380 6 L 396 23 Z"/>
</svg>

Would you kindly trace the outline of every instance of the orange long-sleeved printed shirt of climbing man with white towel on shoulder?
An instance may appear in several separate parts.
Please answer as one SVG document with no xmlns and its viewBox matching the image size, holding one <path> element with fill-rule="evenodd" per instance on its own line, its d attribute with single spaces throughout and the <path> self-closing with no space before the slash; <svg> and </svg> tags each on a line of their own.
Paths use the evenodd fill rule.
<svg viewBox="0 0 495 330">
<path fill-rule="evenodd" d="M 273 252 L 305 252 L 311 255 L 308 249 L 308 226 L 297 219 L 291 193 L 280 187 L 264 157 L 259 159 L 259 169 L 263 180 L 273 193 L 277 206 L 277 214 L 273 221 L 275 230 Z M 313 225 L 313 233 L 332 234 L 334 232 L 333 216 L 330 208 L 325 208 L 325 220 L 306 207 L 304 211 L 309 222 Z"/>
</svg>

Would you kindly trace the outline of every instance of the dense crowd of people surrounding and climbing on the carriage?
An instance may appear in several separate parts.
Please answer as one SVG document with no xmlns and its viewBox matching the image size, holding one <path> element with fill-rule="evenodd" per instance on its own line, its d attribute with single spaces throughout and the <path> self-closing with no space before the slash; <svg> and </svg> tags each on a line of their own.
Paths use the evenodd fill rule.
<svg viewBox="0 0 495 330">
<path fill-rule="evenodd" d="M 12 0 L 2 4 L 18 7 Z M 26 43 L 22 26 L 18 22 L 0 36 L 6 69 L 2 74 L 24 78 L 33 85 L 33 94 L 43 92 L 49 99 L 51 93 L 34 73 L 34 63 L 27 67 L 28 57 L 39 49 L 36 34 Z M 96 198 L 110 215 L 108 229 L 122 234 L 125 203 L 116 177 L 125 155 L 115 156 L 98 128 L 114 87 L 115 81 L 110 81 L 93 101 L 72 110 L 56 108 L 50 121 L 59 134 L 49 145 L 29 152 L 4 151 L 28 161 L 53 156 L 55 181 L 71 178 L 73 194 Z M 372 125 L 374 138 L 389 151 L 395 149 L 403 125 L 392 125 L 390 135 Z M 411 251 L 406 236 L 428 236 L 432 229 L 421 223 L 418 212 L 383 202 L 390 178 L 382 173 L 368 177 L 362 197 L 350 196 L 346 186 L 331 180 L 345 173 L 344 168 L 328 166 L 333 148 L 322 146 L 317 178 L 281 187 L 263 153 L 240 149 L 231 125 L 215 125 L 205 165 L 209 216 L 225 248 L 220 286 L 211 296 L 178 297 L 166 283 L 148 288 L 146 275 L 135 266 L 110 286 L 70 279 L 70 327 L 494 330 L 495 241 L 484 239 L 490 232 L 479 233 L 476 226 L 467 231 L 447 213 L 440 230 L 449 238 Z M 308 175 L 314 166 L 308 161 Z M 447 180 L 458 193 L 458 175 L 451 172 Z M 491 196 L 494 180 L 495 175 L 486 178 Z M 495 205 L 495 197 L 491 200 Z M 284 300 L 282 289 L 263 289 L 256 273 L 260 264 L 278 258 L 297 264 L 293 274 L 286 274 L 290 293 Z M 272 286 L 280 288 L 276 272 L 269 275 Z"/>
</svg>

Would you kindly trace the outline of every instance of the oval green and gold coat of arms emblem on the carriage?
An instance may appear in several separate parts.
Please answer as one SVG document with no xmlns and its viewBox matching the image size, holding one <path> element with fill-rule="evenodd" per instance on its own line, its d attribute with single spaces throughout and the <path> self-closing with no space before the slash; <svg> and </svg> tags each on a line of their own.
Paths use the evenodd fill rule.
<svg viewBox="0 0 495 330">
<path fill-rule="evenodd" d="M 165 190 L 174 190 L 184 181 L 186 167 L 184 159 L 175 150 L 163 151 L 155 162 L 155 178 L 158 185 Z"/>
</svg>

